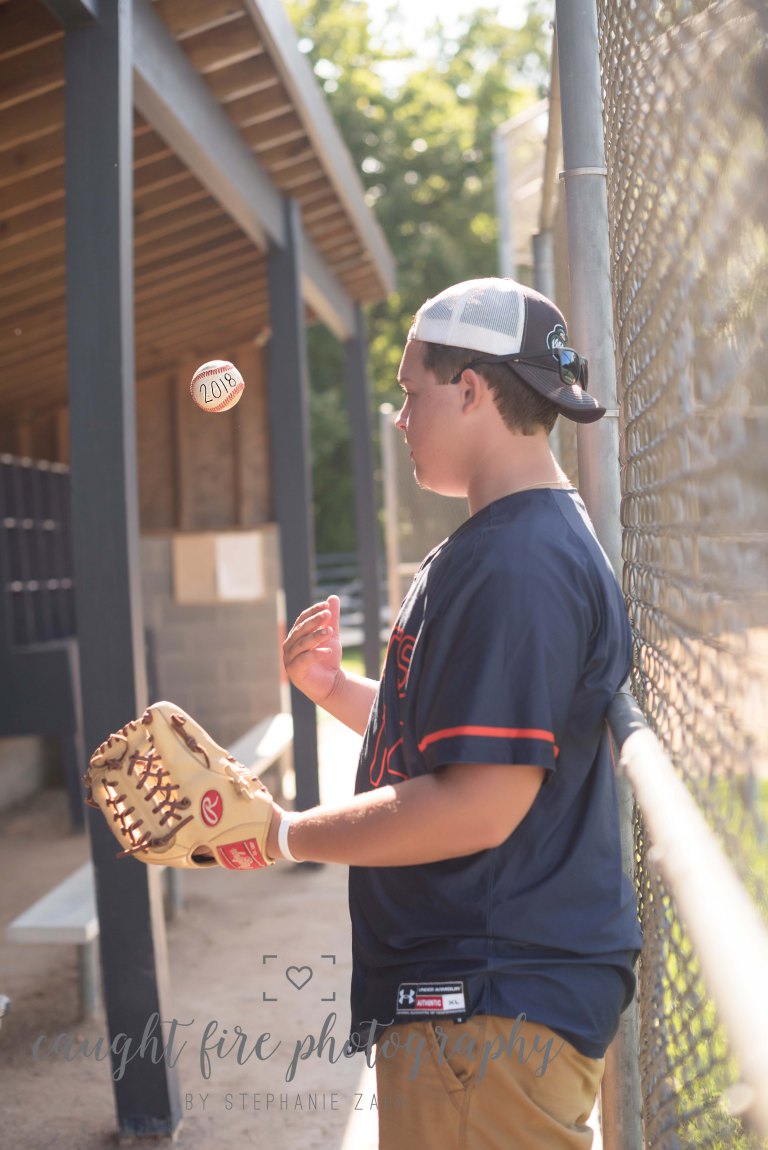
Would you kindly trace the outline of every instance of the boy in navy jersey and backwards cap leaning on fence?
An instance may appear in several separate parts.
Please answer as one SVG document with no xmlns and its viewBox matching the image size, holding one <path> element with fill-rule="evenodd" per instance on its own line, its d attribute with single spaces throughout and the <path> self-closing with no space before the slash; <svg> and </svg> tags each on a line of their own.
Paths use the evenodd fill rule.
<svg viewBox="0 0 768 1150">
<path fill-rule="evenodd" d="M 383 1150 L 586 1148 L 640 948 L 605 719 L 631 638 L 548 434 L 605 412 L 561 313 L 512 279 L 429 299 L 399 382 L 417 483 L 469 518 L 415 576 L 379 683 L 341 667 L 336 597 L 297 620 L 292 682 L 364 739 L 355 796 L 276 808 L 269 849 L 350 866 Z"/>
</svg>

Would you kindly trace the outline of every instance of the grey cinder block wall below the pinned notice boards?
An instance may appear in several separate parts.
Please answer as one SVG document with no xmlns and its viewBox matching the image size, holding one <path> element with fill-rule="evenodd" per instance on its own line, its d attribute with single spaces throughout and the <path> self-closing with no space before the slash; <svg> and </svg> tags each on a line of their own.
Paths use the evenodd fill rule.
<svg viewBox="0 0 768 1150">
<path fill-rule="evenodd" d="M 182 604 L 174 536 L 141 539 L 149 691 L 228 745 L 281 710 L 277 530 L 263 529 L 266 593 L 248 603 Z"/>
</svg>

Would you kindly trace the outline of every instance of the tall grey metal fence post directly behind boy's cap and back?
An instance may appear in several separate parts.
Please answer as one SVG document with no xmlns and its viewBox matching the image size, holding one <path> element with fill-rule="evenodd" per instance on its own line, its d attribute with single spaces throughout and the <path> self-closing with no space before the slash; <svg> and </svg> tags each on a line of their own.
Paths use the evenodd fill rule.
<svg viewBox="0 0 768 1150">
<path fill-rule="evenodd" d="M 578 428 L 579 488 L 598 537 L 621 574 L 619 408 L 608 204 L 596 0 L 556 0 L 563 178 L 575 345 L 590 359 L 590 390 L 607 409 Z M 593 381 L 593 382 L 592 382 Z M 632 860 L 632 802 L 619 779 L 625 866 Z M 629 872 L 631 874 L 631 871 Z M 605 1150 L 642 1150 L 637 1006 L 622 1015 L 602 1086 Z"/>
</svg>

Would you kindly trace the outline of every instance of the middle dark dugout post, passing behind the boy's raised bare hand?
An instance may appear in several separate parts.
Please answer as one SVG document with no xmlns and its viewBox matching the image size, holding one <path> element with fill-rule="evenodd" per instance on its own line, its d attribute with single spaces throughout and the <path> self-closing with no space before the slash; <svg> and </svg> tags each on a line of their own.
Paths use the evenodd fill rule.
<svg viewBox="0 0 768 1150">
<path fill-rule="evenodd" d="M 301 293 L 301 220 L 294 200 L 283 201 L 285 246 L 269 254 L 268 356 L 272 504 L 289 627 L 315 595 L 315 542 L 309 454 L 309 370 Z M 291 687 L 295 805 L 320 802 L 315 706 Z"/>
</svg>

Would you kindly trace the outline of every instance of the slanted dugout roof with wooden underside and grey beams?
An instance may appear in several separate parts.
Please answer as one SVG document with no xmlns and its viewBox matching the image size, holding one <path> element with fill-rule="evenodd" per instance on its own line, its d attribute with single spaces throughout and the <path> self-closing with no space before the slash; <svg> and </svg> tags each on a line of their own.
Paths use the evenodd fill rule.
<svg viewBox="0 0 768 1150">
<path fill-rule="evenodd" d="M 341 339 L 393 262 L 279 0 L 133 0 L 136 370 L 268 337 L 267 252 L 300 207 L 309 320 Z M 0 422 L 67 401 L 62 13 L 0 0 Z M 71 174 L 70 174 L 71 178 Z M 7 442 L 6 450 L 20 450 Z"/>
</svg>

